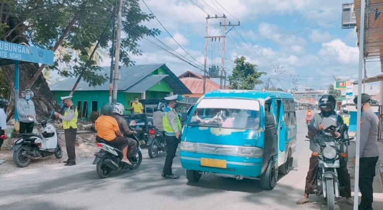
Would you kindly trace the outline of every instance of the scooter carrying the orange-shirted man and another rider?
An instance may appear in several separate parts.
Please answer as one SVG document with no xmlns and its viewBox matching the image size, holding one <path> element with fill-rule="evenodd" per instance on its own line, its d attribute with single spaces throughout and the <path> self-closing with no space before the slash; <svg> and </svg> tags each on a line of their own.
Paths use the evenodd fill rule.
<svg viewBox="0 0 383 210">
<path fill-rule="evenodd" d="M 94 153 L 93 165 L 96 166 L 97 175 L 100 178 L 107 178 L 113 171 L 125 170 L 125 169 L 137 169 L 142 162 L 142 153 L 140 143 L 136 135 L 129 136 L 137 142 L 137 146 L 129 148 L 128 159 L 132 163 L 132 166 L 121 162 L 123 159 L 123 153 L 121 150 L 108 145 L 105 141 L 98 141 L 97 146 L 100 147 L 100 151 Z"/>
</svg>

